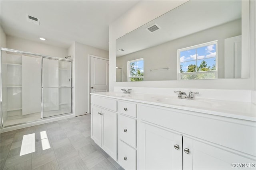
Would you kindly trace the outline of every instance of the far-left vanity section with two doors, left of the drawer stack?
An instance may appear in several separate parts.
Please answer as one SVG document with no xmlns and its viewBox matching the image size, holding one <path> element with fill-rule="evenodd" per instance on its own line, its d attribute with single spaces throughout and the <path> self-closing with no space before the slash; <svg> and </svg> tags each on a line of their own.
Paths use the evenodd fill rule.
<svg viewBox="0 0 256 170">
<path fill-rule="evenodd" d="M 117 159 L 117 101 L 91 96 L 91 138 Z"/>
</svg>

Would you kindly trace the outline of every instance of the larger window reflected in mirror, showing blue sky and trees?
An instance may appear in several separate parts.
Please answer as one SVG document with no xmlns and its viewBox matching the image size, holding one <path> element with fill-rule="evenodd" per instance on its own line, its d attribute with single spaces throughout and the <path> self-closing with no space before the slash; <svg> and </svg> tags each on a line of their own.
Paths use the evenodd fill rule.
<svg viewBox="0 0 256 170">
<path fill-rule="evenodd" d="M 178 49 L 178 80 L 214 78 L 218 78 L 217 41 Z"/>
</svg>

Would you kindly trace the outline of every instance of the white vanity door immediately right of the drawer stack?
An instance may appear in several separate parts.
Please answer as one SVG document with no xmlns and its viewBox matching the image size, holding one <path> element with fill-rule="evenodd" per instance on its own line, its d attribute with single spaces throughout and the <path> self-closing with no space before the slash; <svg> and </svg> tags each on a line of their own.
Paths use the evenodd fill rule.
<svg viewBox="0 0 256 170">
<path fill-rule="evenodd" d="M 174 145 L 179 148 L 175 149 Z M 138 169 L 182 169 L 182 135 L 141 123 Z"/>
</svg>

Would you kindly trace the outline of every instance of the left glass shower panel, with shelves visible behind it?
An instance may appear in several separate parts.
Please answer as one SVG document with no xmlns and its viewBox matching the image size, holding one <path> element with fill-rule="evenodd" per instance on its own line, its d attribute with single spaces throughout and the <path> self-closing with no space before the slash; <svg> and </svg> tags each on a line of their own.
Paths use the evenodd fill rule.
<svg viewBox="0 0 256 170">
<path fill-rule="evenodd" d="M 2 53 L 2 127 L 41 119 L 41 58 Z"/>
</svg>

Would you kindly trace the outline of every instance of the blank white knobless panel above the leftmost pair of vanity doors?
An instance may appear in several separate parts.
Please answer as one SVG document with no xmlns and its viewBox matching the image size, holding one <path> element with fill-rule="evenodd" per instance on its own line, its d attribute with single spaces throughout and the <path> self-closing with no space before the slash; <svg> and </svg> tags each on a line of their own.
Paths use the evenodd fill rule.
<svg viewBox="0 0 256 170">
<path fill-rule="evenodd" d="M 116 111 L 117 101 L 109 98 L 91 95 L 91 104 Z"/>
</svg>

